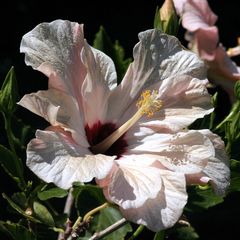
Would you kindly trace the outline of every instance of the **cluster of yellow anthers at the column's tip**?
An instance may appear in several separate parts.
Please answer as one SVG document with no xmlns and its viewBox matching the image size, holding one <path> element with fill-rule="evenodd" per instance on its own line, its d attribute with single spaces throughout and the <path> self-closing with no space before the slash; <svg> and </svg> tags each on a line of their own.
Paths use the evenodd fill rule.
<svg viewBox="0 0 240 240">
<path fill-rule="evenodd" d="M 162 101 L 157 99 L 158 91 L 146 90 L 141 94 L 140 100 L 137 102 L 137 107 L 141 110 L 142 114 L 152 117 L 153 114 L 160 110 Z"/>
</svg>

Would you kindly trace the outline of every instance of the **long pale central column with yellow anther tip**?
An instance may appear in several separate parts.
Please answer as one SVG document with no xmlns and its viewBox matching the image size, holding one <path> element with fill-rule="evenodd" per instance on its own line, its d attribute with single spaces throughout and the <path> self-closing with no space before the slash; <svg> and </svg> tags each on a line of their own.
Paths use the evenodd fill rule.
<svg viewBox="0 0 240 240">
<path fill-rule="evenodd" d="M 91 151 L 94 153 L 105 153 L 112 144 L 125 134 L 142 116 L 152 117 L 163 105 L 162 100 L 158 99 L 158 97 L 158 91 L 145 90 L 137 101 L 136 107 L 138 110 L 136 113 L 103 141 L 92 146 Z"/>
</svg>

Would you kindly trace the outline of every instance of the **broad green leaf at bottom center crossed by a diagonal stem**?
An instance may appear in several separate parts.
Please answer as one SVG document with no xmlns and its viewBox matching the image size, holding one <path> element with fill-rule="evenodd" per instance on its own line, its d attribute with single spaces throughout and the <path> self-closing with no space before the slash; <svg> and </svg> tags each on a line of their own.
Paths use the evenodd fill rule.
<svg viewBox="0 0 240 240">
<path fill-rule="evenodd" d="M 107 207 L 100 211 L 100 213 L 94 217 L 92 223 L 92 230 L 94 232 L 98 232 L 104 230 L 105 228 L 109 227 L 110 225 L 116 223 L 122 219 L 122 215 L 120 212 L 113 207 Z M 128 232 L 132 232 L 132 227 L 130 224 L 125 224 L 118 230 L 114 231 L 113 233 L 104 237 L 104 240 L 122 240 L 127 235 Z"/>
</svg>

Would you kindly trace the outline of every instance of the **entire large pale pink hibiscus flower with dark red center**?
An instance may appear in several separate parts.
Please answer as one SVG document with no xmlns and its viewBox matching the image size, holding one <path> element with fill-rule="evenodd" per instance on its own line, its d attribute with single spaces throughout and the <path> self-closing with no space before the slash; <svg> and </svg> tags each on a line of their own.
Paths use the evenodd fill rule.
<svg viewBox="0 0 240 240">
<path fill-rule="evenodd" d="M 50 124 L 27 146 L 27 165 L 41 179 L 67 189 L 95 178 L 127 219 L 153 231 L 179 219 L 186 183 L 210 181 L 224 194 L 224 143 L 187 130 L 213 111 L 204 64 L 175 37 L 141 32 L 118 86 L 112 60 L 88 45 L 78 23 L 41 23 L 20 49 L 49 79 L 48 90 L 19 102 Z"/>
</svg>

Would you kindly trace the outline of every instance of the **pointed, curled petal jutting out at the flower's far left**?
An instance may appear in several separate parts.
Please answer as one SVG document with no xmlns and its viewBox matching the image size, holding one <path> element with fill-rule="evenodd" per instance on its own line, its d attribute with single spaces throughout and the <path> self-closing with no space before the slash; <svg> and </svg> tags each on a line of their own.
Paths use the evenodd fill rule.
<svg viewBox="0 0 240 240">
<path fill-rule="evenodd" d="M 49 89 L 27 94 L 18 104 L 45 118 L 52 126 L 70 131 L 78 144 L 89 146 L 78 104 L 71 96 Z"/>
</svg>

